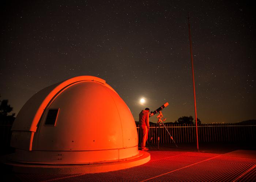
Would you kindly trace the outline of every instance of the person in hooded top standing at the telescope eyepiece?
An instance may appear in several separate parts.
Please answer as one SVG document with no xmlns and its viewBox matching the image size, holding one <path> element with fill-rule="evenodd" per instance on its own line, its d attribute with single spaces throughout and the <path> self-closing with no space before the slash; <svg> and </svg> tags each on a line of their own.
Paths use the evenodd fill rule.
<svg viewBox="0 0 256 182">
<path fill-rule="evenodd" d="M 145 108 L 139 114 L 139 132 L 140 132 L 140 142 L 141 150 L 147 151 L 146 141 L 148 139 L 149 130 L 149 108 Z"/>
</svg>

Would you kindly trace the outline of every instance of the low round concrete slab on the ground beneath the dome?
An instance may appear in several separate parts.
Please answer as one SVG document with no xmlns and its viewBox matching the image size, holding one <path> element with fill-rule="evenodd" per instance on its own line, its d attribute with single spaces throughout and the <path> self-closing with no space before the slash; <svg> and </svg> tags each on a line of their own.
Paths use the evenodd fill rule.
<svg viewBox="0 0 256 182">
<path fill-rule="evenodd" d="M 4 157 L 8 159 L 8 155 Z M 86 173 L 102 173 L 126 169 L 134 166 L 142 165 L 150 161 L 150 154 L 145 151 L 139 151 L 139 155 L 120 160 L 118 162 L 108 161 L 106 163 L 95 163 L 88 165 L 34 165 L 25 163 L 15 163 L 10 161 L 2 161 L 6 165 L 11 165 L 16 173 L 29 174 L 86 174 Z"/>
</svg>

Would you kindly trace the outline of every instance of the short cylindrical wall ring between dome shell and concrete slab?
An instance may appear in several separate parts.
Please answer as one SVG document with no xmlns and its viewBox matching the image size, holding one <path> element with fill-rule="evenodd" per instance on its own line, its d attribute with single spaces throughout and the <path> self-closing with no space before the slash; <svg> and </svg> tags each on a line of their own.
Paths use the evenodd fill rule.
<svg viewBox="0 0 256 182">
<path fill-rule="evenodd" d="M 16 163 L 39 165 L 87 165 L 105 162 L 118 162 L 138 157 L 138 146 L 122 149 L 92 151 L 45 151 L 15 149 L 8 160 Z"/>
</svg>

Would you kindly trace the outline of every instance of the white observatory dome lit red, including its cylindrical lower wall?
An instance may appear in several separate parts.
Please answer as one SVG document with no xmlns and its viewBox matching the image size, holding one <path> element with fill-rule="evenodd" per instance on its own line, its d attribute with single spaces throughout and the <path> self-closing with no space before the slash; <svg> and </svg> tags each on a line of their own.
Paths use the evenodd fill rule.
<svg viewBox="0 0 256 182">
<path fill-rule="evenodd" d="M 136 158 L 131 111 L 105 80 L 78 76 L 32 96 L 12 126 L 12 160 L 79 165 Z"/>
</svg>

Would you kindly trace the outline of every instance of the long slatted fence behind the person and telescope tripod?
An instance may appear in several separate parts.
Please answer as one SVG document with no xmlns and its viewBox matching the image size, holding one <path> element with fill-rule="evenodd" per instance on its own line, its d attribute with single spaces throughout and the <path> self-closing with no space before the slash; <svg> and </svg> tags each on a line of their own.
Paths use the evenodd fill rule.
<svg viewBox="0 0 256 182">
<path fill-rule="evenodd" d="M 196 126 L 192 124 L 165 124 L 176 143 L 196 142 Z M 167 130 L 162 125 L 150 125 L 147 143 L 172 143 Z M 198 142 L 255 142 L 256 125 L 202 124 L 197 126 Z M 139 127 L 137 126 L 139 135 Z M 153 137 L 152 141 L 150 140 Z"/>
</svg>

